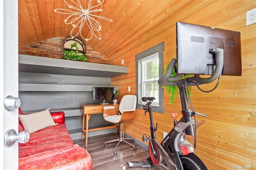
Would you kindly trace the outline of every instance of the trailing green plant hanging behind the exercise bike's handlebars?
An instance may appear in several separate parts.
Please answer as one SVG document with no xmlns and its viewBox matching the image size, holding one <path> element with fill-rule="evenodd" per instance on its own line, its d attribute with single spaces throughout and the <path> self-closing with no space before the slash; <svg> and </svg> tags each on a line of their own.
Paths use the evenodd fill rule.
<svg viewBox="0 0 256 170">
<path fill-rule="evenodd" d="M 166 71 L 167 71 L 169 65 L 170 65 L 170 63 L 168 63 L 168 64 L 166 65 L 165 73 L 166 73 Z M 173 68 L 170 77 L 174 77 L 175 75 L 176 75 L 175 68 Z M 182 75 L 182 77 L 180 77 L 179 80 L 184 79 L 185 77 L 191 77 L 191 75 L 186 75 L 186 76 Z M 164 87 L 166 87 L 166 93 L 169 94 L 169 95 L 171 95 L 171 96 L 170 96 L 170 99 L 169 99 L 169 103 L 170 103 L 170 104 L 173 104 L 174 101 L 175 101 L 175 99 L 176 99 L 176 94 L 178 93 L 179 96 L 180 96 L 180 92 L 179 92 L 178 86 L 176 86 L 176 85 L 175 85 L 175 86 L 172 86 L 172 85 L 164 85 L 164 86 L 162 86 L 162 88 L 164 88 Z M 191 87 L 188 87 L 187 90 L 188 90 L 188 93 L 189 93 L 189 95 L 190 95 Z"/>
</svg>

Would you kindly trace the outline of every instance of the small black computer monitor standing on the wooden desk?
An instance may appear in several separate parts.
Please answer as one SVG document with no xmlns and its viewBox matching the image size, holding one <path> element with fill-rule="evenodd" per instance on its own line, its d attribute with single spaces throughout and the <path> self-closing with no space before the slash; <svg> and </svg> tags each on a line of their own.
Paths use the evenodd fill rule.
<svg viewBox="0 0 256 170">
<path fill-rule="evenodd" d="M 115 87 L 93 87 L 93 100 L 114 100 L 115 99 Z"/>
</svg>

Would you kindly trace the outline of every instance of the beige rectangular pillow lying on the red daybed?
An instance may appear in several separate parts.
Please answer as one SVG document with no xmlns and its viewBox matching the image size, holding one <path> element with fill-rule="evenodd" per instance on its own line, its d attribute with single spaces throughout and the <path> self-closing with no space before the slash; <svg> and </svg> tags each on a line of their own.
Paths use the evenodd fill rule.
<svg viewBox="0 0 256 170">
<path fill-rule="evenodd" d="M 24 129 L 30 133 L 58 124 L 54 123 L 49 109 L 38 113 L 19 115 L 19 117 Z"/>
</svg>

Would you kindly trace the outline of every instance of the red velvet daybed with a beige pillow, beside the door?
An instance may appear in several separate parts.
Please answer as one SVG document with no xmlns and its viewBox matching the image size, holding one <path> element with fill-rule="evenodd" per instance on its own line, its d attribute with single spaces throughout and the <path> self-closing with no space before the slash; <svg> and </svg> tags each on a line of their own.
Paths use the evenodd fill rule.
<svg viewBox="0 0 256 170">
<path fill-rule="evenodd" d="M 42 112 L 47 111 L 48 109 Z M 34 114 L 36 115 L 28 115 Z M 24 127 L 28 131 L 31 130 L 29 141 L 19 143 L 19 170 L 92 170 L 90 154 L 72 142 L 65 126 L 64 112 L 54 112 L 50 115 L 54 120 L 53 126 L 42 128 L 41 123 L 37 123 L 36 128 L 42 129 L 32 132 L 36 129 L 26 129 L 27 124 L 36 123 L 38 117 L 26 121 L 27 114 L 23 114 L 19 108 L 19 132 L 23 131 Z M 42 119 L 45 117 L 42 114 L 40 116 Z"/>
</svg>

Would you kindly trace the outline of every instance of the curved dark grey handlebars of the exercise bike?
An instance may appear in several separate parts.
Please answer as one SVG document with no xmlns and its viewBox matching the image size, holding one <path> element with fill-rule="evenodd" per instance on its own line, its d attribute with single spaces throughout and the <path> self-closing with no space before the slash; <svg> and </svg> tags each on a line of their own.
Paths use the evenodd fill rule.
<svg viewBox="0 0 256 170">
<path fill-rule="evenodd" d="M 188 77 L 186 79 L 178 80 L 183 74 L 177 74 L 174 77 L 170 77 L 172 70 L 177 62 L 176 59 L 172 59 L 170 65 L 163 77 L 158 80 L 159 85 L 178 85 L 179 87 L 182 85 L 200 85 L 211 83 L 216 80 L 219 75 L 222 73 L 223 64 L 224 64 L 224 50 L 221 48 L 210 49 L 210 53 L 215 53 L 216 55 L 216 67 L 214 73 L 208 78 L 201 78 L 199 75 L 194 75 L 195 77 Z M 195 83 L 196 82 L 196 83 Z"/>
</svg>

